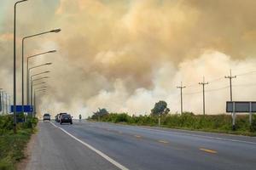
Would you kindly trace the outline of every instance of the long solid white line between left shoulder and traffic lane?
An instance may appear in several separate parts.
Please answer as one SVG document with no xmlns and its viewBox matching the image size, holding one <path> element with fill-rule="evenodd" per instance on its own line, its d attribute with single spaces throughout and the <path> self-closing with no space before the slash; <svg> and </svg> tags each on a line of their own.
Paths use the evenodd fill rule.
<svg viewBox="0 0 256 170">
<path fill-rule="evenodd" d="M 53 122 L 50 122 L 54 127 L 57 127 Z M 107 156 L 106 154 L 104 154 L 102 151 L 100 150 L 96 150 L 96 148 L 92 147 L 90 144 L 85 143 L 84 141 L 74 137 L 71 133 L 68 133 L 66 130 L 64 130 L 61 127 L 57 127 L 59 129 L 61 129 L 62 132 L 67 133 L 67 135 L 69 135 L 70 137 L 72 137 L 73 139 L 79 141 L 79 143 L 84 144 L 84 146 L 86 146 L 87 148 L 89 148 L 90 150 L 93 150 L 96 152 L 96 154 L 98 154 L 99 156 L 102 156 L 104 159 L 106 159 L 107 161 L 109 161 L 110 163 L 112 163 L 115 167 L 119 167 L 119 169 L 121 170 L 129 170 L 127 167 L 121 165 L 119 162 L 114 161 L 111 157 Z"/>
</svg>

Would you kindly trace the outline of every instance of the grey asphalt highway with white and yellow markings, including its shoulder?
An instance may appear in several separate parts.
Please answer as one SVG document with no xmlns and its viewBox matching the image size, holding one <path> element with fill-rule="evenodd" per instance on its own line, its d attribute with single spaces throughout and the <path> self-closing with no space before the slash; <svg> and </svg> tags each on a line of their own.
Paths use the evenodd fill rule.
<svg viewBox="0 0 256 170">
<path fill-rule="evenodd" d="M 256 168 L 256 138 L 102 122 L 38 127 L 26 169 Z"/>
</svg>

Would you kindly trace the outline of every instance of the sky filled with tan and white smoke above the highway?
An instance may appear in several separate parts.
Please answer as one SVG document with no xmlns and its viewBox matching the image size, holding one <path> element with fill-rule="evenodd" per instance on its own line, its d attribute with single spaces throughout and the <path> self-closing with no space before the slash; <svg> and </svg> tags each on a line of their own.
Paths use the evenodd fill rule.
<svg viewBox="0 0 256 170">
<path fill-rule="evenodd" d="M 0 88 L 13 93 L 13 5 L 0 2 Z M 17 9 L 17 88 L 21 101 L 21 39 L 61 28 L 58 34 L 26 41 L 33 71 L 49 73 L 48 94 L 38 96 L 38 114 L 65 111 L 91 116 L 97 108 L 149 114 L 166 100 L 172 113 L 225 112 L 230 100 L 256 100 L 254 0 L 29 0 Z"/>
</svg>

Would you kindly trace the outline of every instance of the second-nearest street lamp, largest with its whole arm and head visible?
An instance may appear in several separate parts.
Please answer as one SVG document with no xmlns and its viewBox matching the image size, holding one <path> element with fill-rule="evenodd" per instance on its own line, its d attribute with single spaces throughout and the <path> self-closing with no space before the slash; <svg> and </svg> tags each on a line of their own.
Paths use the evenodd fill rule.
<svg viewBox="0 0 256 170">
<path fill-rule="evenodd" d="M 47 34 L 47 33 L 52 33 L 52 32 L 54 32 L 54 33 L 58 33 L 58 32 L 60 32 L 61 31 L 61 29 L 55 29 L 55 30 L 51 30 L 51 31 L 44 31 L 44 32 L 41 32 L 41 33 L 38 33 L 38 34 L 34 34 L 34 35 L 31 35 L 31 36 L 27 36 L 27 37 L 23 37 L 22 38 L 22 63 L 21 63 L 21 66 L 22 66 L 22 68 L 21 68 L 21 70 L 22 70 L 22 81 L 21 81 L 21 86 L 22 86 L 22 88 L 21 88 L 21 90 L 22 90 L 22 107 L 24 106 L 24 46 L 25 46 L 25 40 L 27 39 L 27 38 L 30 38 L 30 37 L 37 37 L 37 36 L 41 36 L 41 35 L 44 35 L 44 34 Z M 22 111 L 23 111 L 23 109 L 22 109 Z"/>
</svg>

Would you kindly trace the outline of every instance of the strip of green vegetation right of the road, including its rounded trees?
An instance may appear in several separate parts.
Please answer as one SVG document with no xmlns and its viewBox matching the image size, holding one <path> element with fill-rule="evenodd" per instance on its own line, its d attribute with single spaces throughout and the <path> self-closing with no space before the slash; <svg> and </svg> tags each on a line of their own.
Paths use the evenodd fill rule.
<svg viewBox="0 0 256 170">
<path fill-rule="evenodd" d="M 227 114 L 222 115 L 195 115 L 191 112 L 180 114 L 171 114 L 170 109 L 164 101 L 154 105 L 150 115 L 130 116 L 127 113 L 108 113 L 106 109 L 94 113 L 89 120 L 125 123 L 137 126 L 169 127 L 186 130 L 197 130 L 213 133 L 232 133 L 248 136 L 256 136 L 256 116 L 253 116 L 252 125 L 249 125 L 248 115 L 236 116 L 236 131 L 232 130 L 232 117 Z"/>
</svg>

